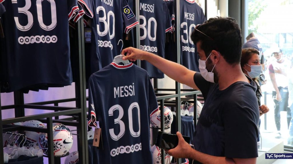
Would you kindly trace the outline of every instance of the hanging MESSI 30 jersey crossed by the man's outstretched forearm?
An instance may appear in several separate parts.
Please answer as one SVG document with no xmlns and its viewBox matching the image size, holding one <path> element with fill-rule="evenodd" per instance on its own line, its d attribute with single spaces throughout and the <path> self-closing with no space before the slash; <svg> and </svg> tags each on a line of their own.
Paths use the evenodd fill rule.
<svg viewBox="0 0 293 164">
<path fill-rule="evenodd" d="M 166 3 L 158 0 L 139 1 L 140 49 L 165 57 L 166 32 L 173 29 Z M 142 60 L 141 66 L 151 78 L 164 78 L 162 71 Z"/>
</svg>

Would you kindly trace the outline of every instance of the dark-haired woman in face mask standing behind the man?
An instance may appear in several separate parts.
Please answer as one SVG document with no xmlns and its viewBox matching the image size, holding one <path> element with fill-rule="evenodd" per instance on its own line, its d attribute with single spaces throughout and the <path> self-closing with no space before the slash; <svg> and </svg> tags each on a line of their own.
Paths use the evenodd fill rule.
<svg viewBox="0 0 293 164">
<path fill-rule="evenodd" d="M 243 48 L 241 53 L 240 65 L 243 73 L 247 77 L 251 78 L 257 86 L 257 90 L 255 93 L 258 99 L 260 116 L 268 113 L 268 111 L 270 110 L 268 106 L 265 104 L 261 105 L 260 103 L 260 97 L 262 96 L 262 92 L 257 78 L 262 71 L 262 65 L 260 64 L 259 51 L 254 48 Z M 258 123 L 258 127 L 260 127 L 260 120 Z M 260 135 L 258 135 L 257 138 L 257 146 L 258 148 L 260 148 Z"/>
</svg>

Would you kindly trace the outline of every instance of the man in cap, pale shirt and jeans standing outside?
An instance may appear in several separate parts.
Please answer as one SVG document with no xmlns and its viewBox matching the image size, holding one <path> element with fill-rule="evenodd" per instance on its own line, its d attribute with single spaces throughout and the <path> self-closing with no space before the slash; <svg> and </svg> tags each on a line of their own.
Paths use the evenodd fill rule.
<svg viewBox="0 0 293 164">
<path fill-rule="evenodd" d="M 274 102 L 275 107 L 275 124 L 277 127 L 277 134 L 275 138 L 281 138 L 281 116 L 280 111 L 287 111 L 287 124 L 289 127 L 291 121 L 291 112 L 288 108 L 288 77 L 287 72 L 290 69 L 290 61 L 283 57 L 281 49 L 275 50 L 272 53 L 276 60 L 273 60 L 269 65 L 269 75 L 275 91 L 272 92 L 273 97 L 276 97 Z"/>
</svg>

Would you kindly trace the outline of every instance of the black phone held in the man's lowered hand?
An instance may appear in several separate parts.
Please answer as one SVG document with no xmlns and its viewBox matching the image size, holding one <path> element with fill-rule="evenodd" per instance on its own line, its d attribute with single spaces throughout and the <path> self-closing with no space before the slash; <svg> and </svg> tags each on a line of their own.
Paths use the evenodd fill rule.
<svg viewBox="0 0 293 164">
<path fill-rule="evenodd" d="M 190 137 L 183 136 L 183 139 L 190 143 Z M 156 146 L 161 149 L 173 149 L 178 145 L 178 137 L 174 134 L 159 132 L 156 140 Z"/>
</svg>

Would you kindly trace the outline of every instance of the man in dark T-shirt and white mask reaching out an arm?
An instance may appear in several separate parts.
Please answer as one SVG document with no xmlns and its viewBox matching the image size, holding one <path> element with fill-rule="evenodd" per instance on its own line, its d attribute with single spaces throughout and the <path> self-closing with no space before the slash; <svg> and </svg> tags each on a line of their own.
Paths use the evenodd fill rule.
<svg viewBox="0 0 293 164">
<path fill-rule="evenodd" d="M 256 85 L 240 67 L 241 29 L 234 18 L 211 18 L 197 25 L 191 39 L 200 57 L 200 73 L 135 48 L 124 60 L 147 60 L 174 80 L 200 90 L 205 105 L 192 149 L 177 132 L 178 146 L 166 151 L 196 163 L 256 163 L 259 108 Z"/>
</svg>

